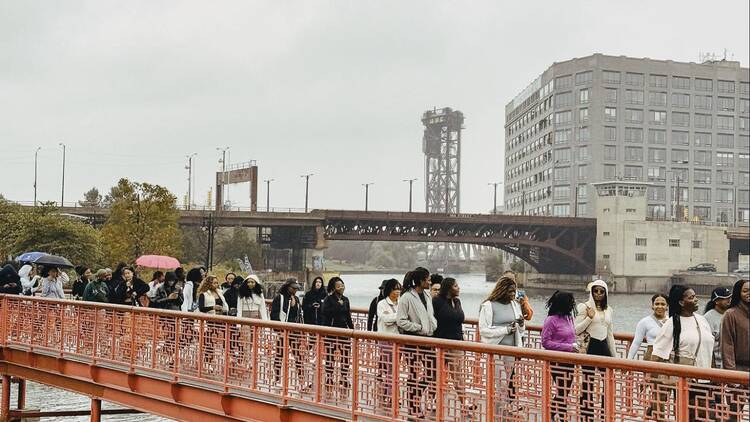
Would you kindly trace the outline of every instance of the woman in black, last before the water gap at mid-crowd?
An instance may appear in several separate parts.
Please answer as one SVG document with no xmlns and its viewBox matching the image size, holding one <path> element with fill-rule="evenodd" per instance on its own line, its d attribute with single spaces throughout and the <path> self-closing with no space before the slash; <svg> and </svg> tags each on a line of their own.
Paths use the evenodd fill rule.
<svg viewBox="0 0 750 422">
<path fill-rule="evenodd" d="M 340 277 L 332 277 L 328 281 L 328 297 L 323 301 L 323 325 L 327 327 L 354 329 L 352 322 L 352 311 L 349 307 L 349 298 L 344 296 L 344 280 Z M 351 339 L 343 336 L 328 336 L 325 341 L 325 382 L 326 390 L 335 391 L 334 372 L 336 367 L 340 368 L 338 385 L 343 387 L 344 395 L 349 389 L 349 354 L 351 351 Z M 338 352 L 338 359 L 336 358 Z M 338 362 L 338 363 L 337 363 Z"/>
</svg>

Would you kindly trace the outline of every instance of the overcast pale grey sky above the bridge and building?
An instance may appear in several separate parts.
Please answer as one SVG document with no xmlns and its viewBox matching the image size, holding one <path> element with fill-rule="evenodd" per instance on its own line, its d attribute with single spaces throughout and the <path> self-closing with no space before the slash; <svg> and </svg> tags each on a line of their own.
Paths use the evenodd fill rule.
<svg viewBox="0 0 750 422">
<path fill-rule="evenodd" d="M 120 177 L 180 203 L 196 152 L 196 202 L 218 168 L 258 161 L 271 205 L 403 210 L 419 177 L 420 116 L 466 116 L 462 211 L 503 179 L 504 106 L 552 62 L 595 52 L 748 64 L 748 2 L 4 1 L 0 3 L 0 193 L 67 201 Z M 248 206 L 247 186 L 230 200 Z M 259 205 L 265 206 L 265 185 Z"/>
</svg>

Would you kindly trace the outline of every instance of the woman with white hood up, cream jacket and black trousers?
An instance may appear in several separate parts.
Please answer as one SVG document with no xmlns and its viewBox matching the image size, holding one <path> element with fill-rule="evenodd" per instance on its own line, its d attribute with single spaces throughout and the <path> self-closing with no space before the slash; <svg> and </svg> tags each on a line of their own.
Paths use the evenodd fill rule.
<svg viewBox="0 0 750 422">
<path fill-rule="evenodd" d="M 615 336 L 612 328 L 612 307 L 607 304 L 607 283 L 604 280 L 595 280 L 589 286 L 589 300 L 579 304 L 576 309 L 576 334 L 588 339 L 586 354 L 614 357 Z M 594 409 L 603 408 L 602 403 L 595 403 L 599 397 L 595 390 L 602 376 L 595 367 L 582 366 L 581 369 L 581 412 L 585 414 L 585 420 L 593 420 Z M 599 399 L 603 400 L 601 397 Z"/>
</svg>

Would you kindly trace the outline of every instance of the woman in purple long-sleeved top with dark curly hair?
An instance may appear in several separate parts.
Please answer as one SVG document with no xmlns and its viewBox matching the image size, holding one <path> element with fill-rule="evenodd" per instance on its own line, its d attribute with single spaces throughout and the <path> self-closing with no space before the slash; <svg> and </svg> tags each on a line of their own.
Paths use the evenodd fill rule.
<svg viewBox="0 0 750 422">
<path fill-rule="evenodd" d="M 578 352 L 576 329 L 573 322 L 573 310 L 576 302 L 573 294 L 556 291 L 547 301 L 547 318 L 542 326 L 542 347 L 558 352 Z M 570 393 L 573 382 L 573 365 L 558 363 L 552 369 L 552 380 L 557 387 L 552 399 L 552 420 L 563 421 L 565 418 L 565 396 Z"/>
</svg>

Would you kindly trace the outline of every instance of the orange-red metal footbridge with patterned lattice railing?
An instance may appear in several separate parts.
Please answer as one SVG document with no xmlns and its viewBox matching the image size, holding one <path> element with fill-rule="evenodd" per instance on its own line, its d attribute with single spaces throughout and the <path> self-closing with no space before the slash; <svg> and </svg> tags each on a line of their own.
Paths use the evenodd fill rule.
<svg viewBox="0 0 750 422">
<path fill-rule="evenodd" d="M 184 421 L 385 421 L 413 407 L 422 421 L 548 422 L 638 421 L 653 404 L 654 420 L 750 420 L 747 373 L 545 351 L 539 327 L 515 348 L 476 342 L 476 321 L 472 341 L 455 342 L 25 296 L 0 306 L 4 386 L 44 383 L 89 395 L 92 409 L 103 399 Z M 361 327 L 363 311 L 355 318 Z M 620 356 L 630 341 L 617 335 Z M 5 388 L 5 417 L 9 399 Z"/>
</svg>

